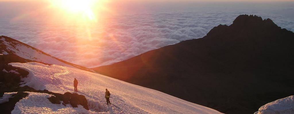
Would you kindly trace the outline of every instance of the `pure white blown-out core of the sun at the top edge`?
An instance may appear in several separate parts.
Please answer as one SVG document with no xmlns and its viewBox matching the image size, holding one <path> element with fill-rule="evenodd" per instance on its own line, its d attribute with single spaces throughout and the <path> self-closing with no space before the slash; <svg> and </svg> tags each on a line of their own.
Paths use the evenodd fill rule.
<svg viewBox="0 0 294 114">
<path fill-rule="evenodd" d="M 70 14 L 82 14 L 88 19 L 95 19 L 93 4 L 97 0 L 51 0 L 51 5 Z"/>
</svg>

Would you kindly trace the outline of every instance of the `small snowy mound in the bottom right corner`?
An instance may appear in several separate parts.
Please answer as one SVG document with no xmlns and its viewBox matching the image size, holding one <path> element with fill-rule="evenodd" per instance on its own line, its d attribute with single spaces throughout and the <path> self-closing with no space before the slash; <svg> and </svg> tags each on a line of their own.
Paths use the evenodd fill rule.
<svg viewBox="0 0 294 114">
<path fill-rule="evenodd" d="M 254 114 L 294 114 L 294 96 L 267 103 Z"/>
</svg>

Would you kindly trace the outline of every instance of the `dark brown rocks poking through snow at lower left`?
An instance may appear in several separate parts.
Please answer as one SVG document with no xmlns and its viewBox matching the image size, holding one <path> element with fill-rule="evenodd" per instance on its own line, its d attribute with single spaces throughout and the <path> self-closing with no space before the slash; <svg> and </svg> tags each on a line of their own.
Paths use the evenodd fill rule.
<svg viewBox="0 0 294 114">
<path fill-rule="evenodd" d="M 73 107 L 82 105 L 86 110 L 89 110 L 88 101 L 84 95 L 69 92 L 61 94 L 48 90 L 35 90 L 27 85 L 20 87 L 19 83 L 21 83 L 21 78 L 25 78 L 28 74 L 29 72 L 23 69 L 0 63 L 0 97 L 2 97 L 4 93 L 17 92 L 12 95 L 12 98 L 9 98 L 8 102 L 0 104 L 0 110 L 4 110 L 4 112 L 1 113 L 10 113 L 14 109 L 15 104 L 28 95 L 28 93 L 25 92 L 48 93 L 54 95 L 48 98 L 53 104 L 61 104 L 61 101 L 63 101 L 63 105 L 70 104 Z"/>
</svg>

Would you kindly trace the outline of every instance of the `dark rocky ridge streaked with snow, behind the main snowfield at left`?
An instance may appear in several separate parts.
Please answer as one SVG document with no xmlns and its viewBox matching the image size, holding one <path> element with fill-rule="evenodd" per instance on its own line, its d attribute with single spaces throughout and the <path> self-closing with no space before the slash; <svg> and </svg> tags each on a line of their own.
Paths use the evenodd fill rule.
<svg viewBox="0 0 294 114">
<path fill-rule="evenodd" d="M 20 41 L 17 41 L 13 38 L 9 38 L 6 36 L 0 36 L 0 53 L 4 55 L 14 54 L 21 58 L 29 59 L 32 61 L 38 61 L 38 62 L 43 62 L 48 64 L 56 64 L 56 65 L 67 66 L 71 68 L 83 69 L 86 71 L 92 71 L 88 68 L 78 66 L 73 63 L 69 63 L 59 58 L 50 56 L 49 54 L 44 53 L 41 50 L 38 50 L 32 46 L 29 46 L 25 43 L 22 43 Z"/>
</svg>

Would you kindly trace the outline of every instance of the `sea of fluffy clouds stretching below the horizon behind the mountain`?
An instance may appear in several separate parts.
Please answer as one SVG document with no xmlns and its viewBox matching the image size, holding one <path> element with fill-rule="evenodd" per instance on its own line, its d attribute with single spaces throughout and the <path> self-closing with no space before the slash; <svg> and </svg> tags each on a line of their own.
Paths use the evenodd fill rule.
<svg viewBox="0 0 294 114">
<path fill-rule="evenodd" d="M 180 41 L 202 38 L 214 26 L 232 24 L 240 14 L 270 18 L 278 26 L 294 31 L 294 18 L 285 16 L 287 14 L 235 9 L 182 8 L 121 13 L 101 22 L 103 26 L 93 24 L 86 27 L 38 18 L 11 21 L 9 17 L 0 17 L 0 35 L 15 38 L 65 61 L 92 68 Z M 294 11 L 285 7 L 280 10 Z"/>
</svg>

